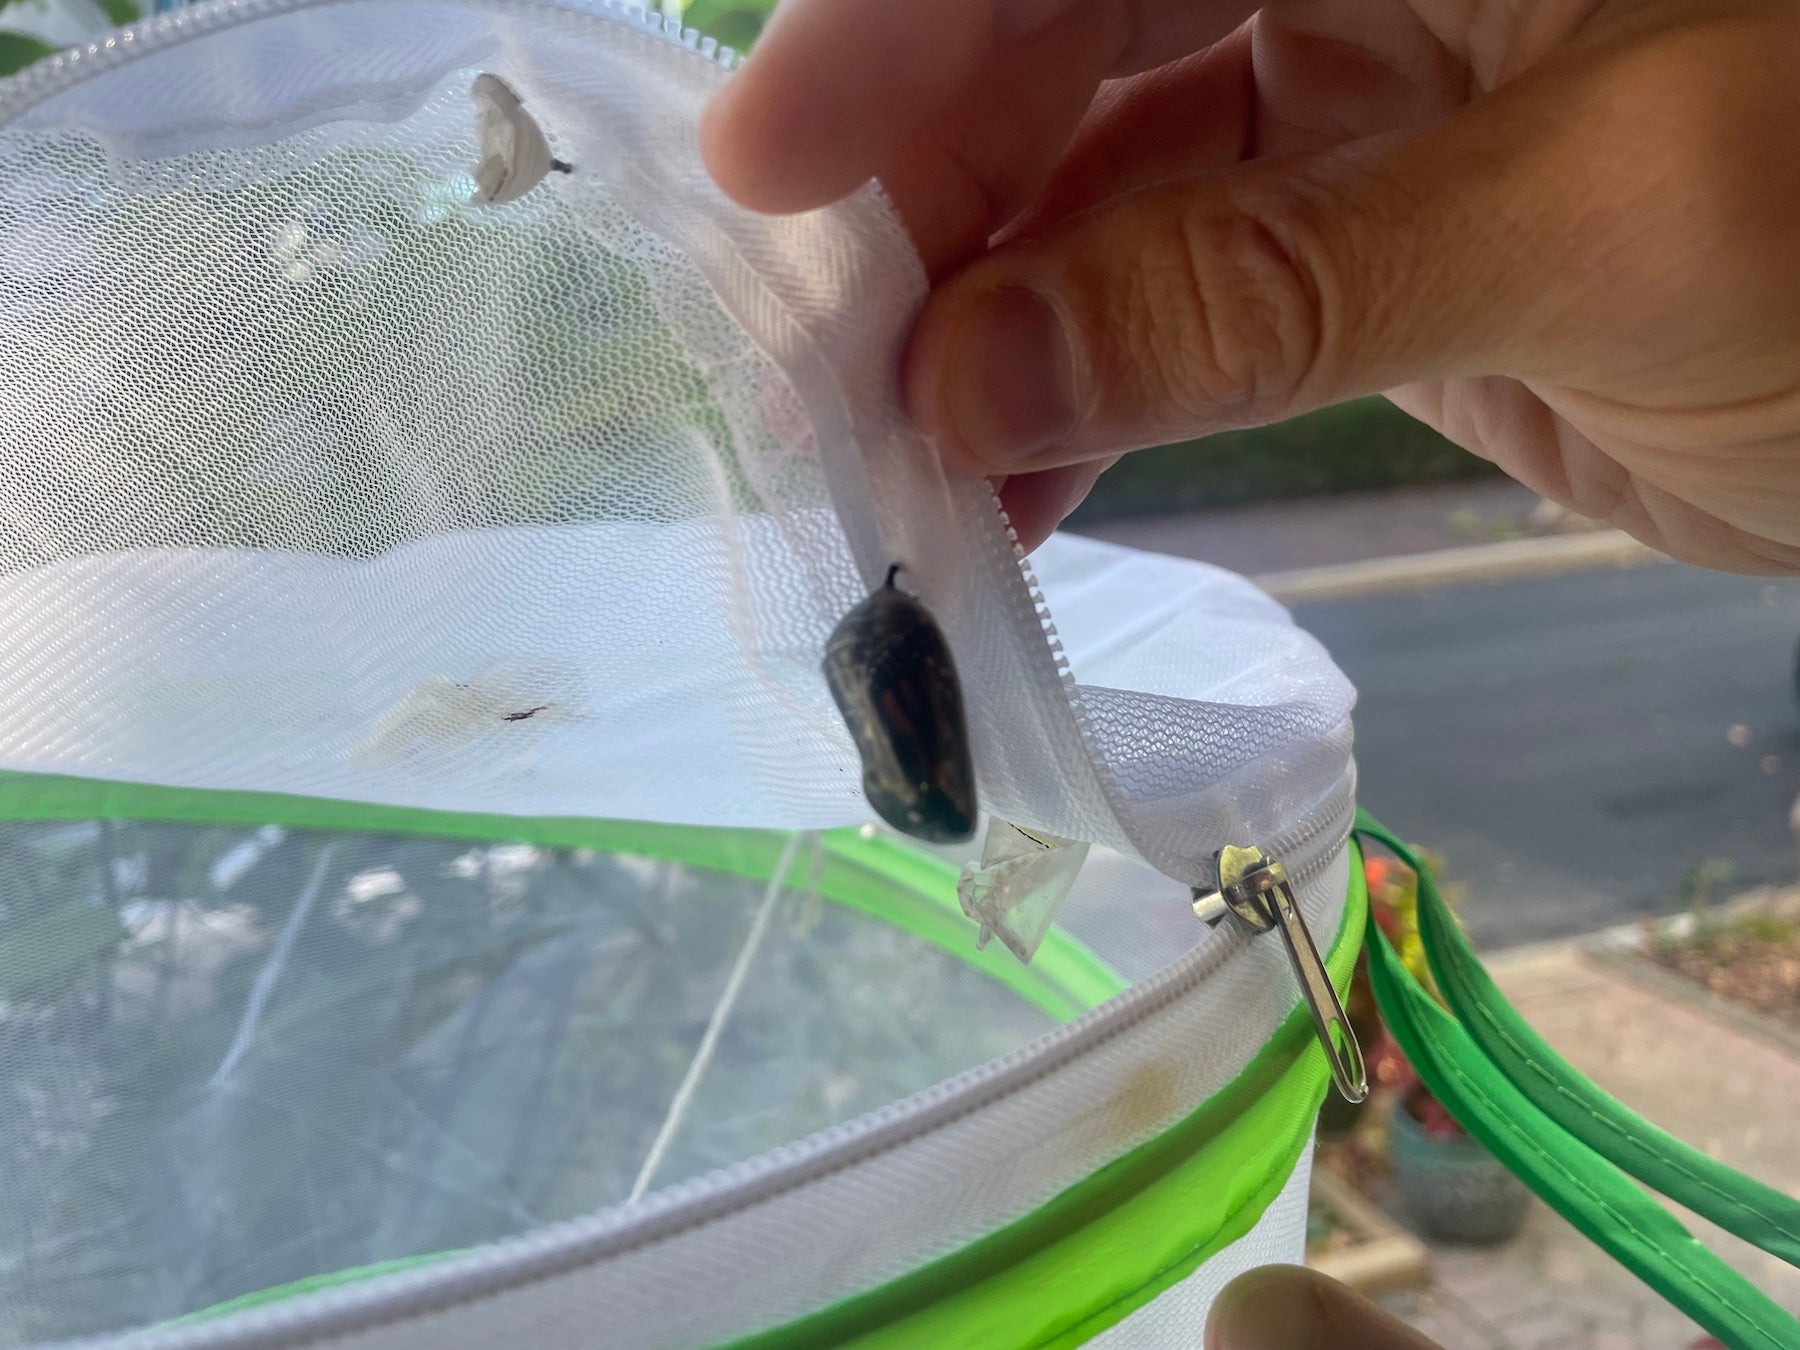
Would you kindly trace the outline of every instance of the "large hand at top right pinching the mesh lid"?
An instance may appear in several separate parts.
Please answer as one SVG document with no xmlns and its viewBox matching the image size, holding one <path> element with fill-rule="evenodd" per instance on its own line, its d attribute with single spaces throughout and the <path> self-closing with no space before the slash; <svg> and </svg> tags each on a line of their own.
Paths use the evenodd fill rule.
<svg viewBox="0 0 1800 1350">
<path fill-rule="evenodd" d="M 788 0 L 702 149 L 878 175 L 907 401 L 1028 544 L 1121 450 L 1388 391 L 1676 556 L 1800 571 L 1787 0 Z"/>
</svg>

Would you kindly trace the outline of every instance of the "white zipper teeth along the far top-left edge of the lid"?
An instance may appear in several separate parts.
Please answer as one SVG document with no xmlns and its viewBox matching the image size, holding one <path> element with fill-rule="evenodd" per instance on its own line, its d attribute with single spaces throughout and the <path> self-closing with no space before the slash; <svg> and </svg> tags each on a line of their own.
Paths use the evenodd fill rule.
<svg viewBox="0 0 1800 1350">
<path fill-rule="evenodd" d="M 29 112 L 81 79 L 103 74 L 146 52 L 175 47 L 191 38 L 248 23 L 259 18 L 299 13 L 302 9 L 324 9 L 353 0 L 211 0 L 209 4 L 184 5 L 171 9 L 139 23 L 128 23 L 104 38 L 90 43 L 68 47 L 56 56 L 47 56 L 25 70 L 0 81 L 0 130 L 20 113 Z M 466 4 L 466 0 L 464 0 Z M 628 25 L 639 32 L 661 38 L 671 47 L 680 47 L 695 56 L 720 67 L 736 70 L 742 54 L 733 47 L 724 47 L 707 38 L 698 29 L 682 27 L 673 14 L 652 14 L 643 5 L 630 0 L 479 0 L 473 9 L 540 9 L 553 14 L 587 14 L 608 18 Z"/>
</svg>

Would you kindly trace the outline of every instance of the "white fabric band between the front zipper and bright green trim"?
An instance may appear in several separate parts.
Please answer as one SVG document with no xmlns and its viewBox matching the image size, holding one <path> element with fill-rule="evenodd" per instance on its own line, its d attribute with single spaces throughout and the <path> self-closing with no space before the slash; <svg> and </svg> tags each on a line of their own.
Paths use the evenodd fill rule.
<svg viewBox="0 0 1800 1350">
<path fill-rule="evenodd" d="M 1346 882 L 1348 855 L 1337 851 L 1300 887 L 1327 947 Z M 1080 907 L 1082 896 L 1071 898 L 1071 913 Z M 589 1350 L 596 1325 L 621 1350 L 720 1345 L 878 1287 L 1030 1213 L 1220 1091 L 1294 1003 L 1276 943 L 1219 931 L 1112 1004 L 839 1129 L 637 1206 L 155 1332 L 133 1348 L 441 1350 L 529 1332 L 535 1350 Z M 936 1012 L 958 1024 L 967 1015 Z"/>
</svg>

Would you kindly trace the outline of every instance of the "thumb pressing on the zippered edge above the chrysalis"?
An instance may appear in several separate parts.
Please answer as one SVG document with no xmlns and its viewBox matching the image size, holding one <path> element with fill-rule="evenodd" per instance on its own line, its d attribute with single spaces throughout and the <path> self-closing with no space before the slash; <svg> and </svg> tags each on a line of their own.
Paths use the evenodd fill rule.
<svg viewBox="0 0 1800 1350">
<path fill-rule="evenodd" d="M 1031 229 L 934 292 L 909 409 L 949 459 L 1015 473 L 1510 373 L 1580 214 L 1553 158 L 1465 113 Z"/>
</svg>

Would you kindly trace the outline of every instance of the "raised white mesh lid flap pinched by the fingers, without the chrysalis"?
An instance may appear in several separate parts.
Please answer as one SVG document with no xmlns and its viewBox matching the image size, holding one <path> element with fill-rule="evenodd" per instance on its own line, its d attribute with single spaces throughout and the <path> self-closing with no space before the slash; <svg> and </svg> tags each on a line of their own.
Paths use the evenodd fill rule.
<svg viewBox="0 0 1800 1350">
<path fill-rule="evenodd" d="M 572 166 L 500 207 L 484 72 Z M 0 90 L 0 765 L 855 823 L 819 653 L 900 562 L 999 815 L 1190 882 L 1341 815 L 1350 691 L 1274 607 L 1071 677 L 990 490 L 896 412 L 904 229 L 875 187 L 731 207 L 722 79 L 605 9 L 250 0 Z"/>
</svg>

